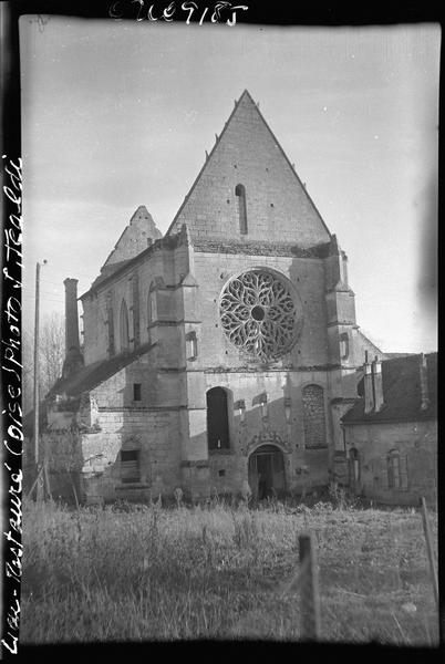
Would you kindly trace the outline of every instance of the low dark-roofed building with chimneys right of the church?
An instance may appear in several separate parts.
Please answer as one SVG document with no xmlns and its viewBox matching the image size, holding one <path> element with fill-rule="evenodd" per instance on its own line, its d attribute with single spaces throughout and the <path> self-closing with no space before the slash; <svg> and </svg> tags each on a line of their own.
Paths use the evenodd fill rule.
<svg viewBox="0 0 445 664">
<path fill-rule="evenodd" d="M 389 505 L 437 500 L 437 353 L 364 364 L 342 417 L 349 486 Z"/>
</svg>

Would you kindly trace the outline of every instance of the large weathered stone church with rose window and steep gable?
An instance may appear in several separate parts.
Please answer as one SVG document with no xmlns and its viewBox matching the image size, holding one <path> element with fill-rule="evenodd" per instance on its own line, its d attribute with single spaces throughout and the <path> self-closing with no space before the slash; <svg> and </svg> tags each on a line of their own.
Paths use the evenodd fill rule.
<svg viewBox="0 0 445 664">
<path fill-rule="evenodd" d="M 327 486 L 365 351 L 384 359 L 346 262 L 245 91 L 165 236 L 139 207 L 81 295 L 83 352 L 65 280 L 54 468 L 70 455 L 86 501 Z"/>
</svg>

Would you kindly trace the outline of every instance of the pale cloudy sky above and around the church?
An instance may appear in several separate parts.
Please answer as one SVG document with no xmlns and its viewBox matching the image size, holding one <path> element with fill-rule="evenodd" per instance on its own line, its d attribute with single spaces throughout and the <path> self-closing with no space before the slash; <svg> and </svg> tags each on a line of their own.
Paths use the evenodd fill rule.
<svg viewBox="0 0 445 664">
<path fill-rule="evenodd" d="M 349 256 L 358 323 L 436 350 L 437 25 L 22 17 L 24 326 L 85 292 L 139 205 L 165 232 L 248 89 Z"/>
</svg>

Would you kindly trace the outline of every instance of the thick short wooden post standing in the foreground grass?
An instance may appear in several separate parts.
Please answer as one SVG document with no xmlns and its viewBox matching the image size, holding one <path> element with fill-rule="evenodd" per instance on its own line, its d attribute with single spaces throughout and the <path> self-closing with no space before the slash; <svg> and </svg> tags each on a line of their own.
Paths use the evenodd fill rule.
<svg viewBox="0 0 445 664">
<path fill-rule="evenodd" d="M 311 532 L 299 538 L 300 566 L 307 568 L 301 579 L 301 636 L 304 640 L 320 639 L 320 595 L 317 570 L 317 556 Z"/>
</svg>

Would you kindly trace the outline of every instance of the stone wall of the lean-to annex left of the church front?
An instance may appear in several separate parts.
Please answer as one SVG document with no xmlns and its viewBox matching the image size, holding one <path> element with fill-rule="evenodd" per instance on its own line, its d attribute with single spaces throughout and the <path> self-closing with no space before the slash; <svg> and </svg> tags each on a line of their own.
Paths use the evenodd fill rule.
<svg viewBox="0 0 445 664">
<path fill-rule="evenodd" d="M 147 500 L 153 495 L 172 495 L 182 484 L 184 374 L 153 371 L 153 362 L 149 354 L 143 355 L 90 392 L 87 406 L 94 414 L 94 427 L 76 434 L 75 467 L 71 463 L 82 480 L 80 496 L 86 501 Z M 139 401 L 134 400 L 134 383 L 141 385 Z M 66 445 L 62 442 L 74 435 L 68 430 L 73 416 L 70 412 L 54 412 L 53 424 L 59 423 L 60 427 L 54 434 L 59 442 L 54 459 L 59 465 L 65 463 L 62 448 Z M 123 446 L 139 450 L 141 480 L 134 485 L 124 484 L 121 478 Z M 54 459 L 50 459 L 52 470 L 56 466 Z M 70 477 L 65 479 L 71 481 Z M 69 484 L 66 491 L 72 492 Z"/>
</svg>

